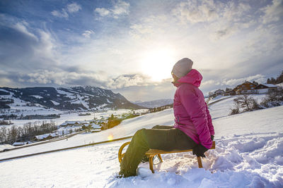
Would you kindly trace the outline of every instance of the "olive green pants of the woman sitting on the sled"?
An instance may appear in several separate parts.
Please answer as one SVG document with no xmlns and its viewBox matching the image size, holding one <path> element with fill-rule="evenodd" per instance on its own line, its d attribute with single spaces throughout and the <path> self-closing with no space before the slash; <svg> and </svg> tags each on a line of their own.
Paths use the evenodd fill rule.
<svg viewBox="0 0 283 188">
<path fill-rule="evenodd" d="M 186 150 L 196 145 L 187 134 L 173 126 L 156 125 L 152 129 L 138 130 L 122 159 L 120 174 L 125 177 L 136 175 L 137 166 L 149 149 Z"/>
</svg>

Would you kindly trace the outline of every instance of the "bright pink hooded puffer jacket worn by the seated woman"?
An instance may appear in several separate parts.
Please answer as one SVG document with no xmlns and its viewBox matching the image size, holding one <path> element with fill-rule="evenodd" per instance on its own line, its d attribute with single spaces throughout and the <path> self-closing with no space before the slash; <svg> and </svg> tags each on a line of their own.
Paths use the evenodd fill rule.
<svg viewBox="0 0 283 188">
<path fill-rule="evenodd" d="M 214 135 L 212 117 L 200 87 L 202 75 L 195 69 L 190 70 L 174 85 L 178 87 L 174 96 L 174 127 L 182 130 L 197 144 L 210 149 L 212 147 L 211 135 Z"/>
</svg>

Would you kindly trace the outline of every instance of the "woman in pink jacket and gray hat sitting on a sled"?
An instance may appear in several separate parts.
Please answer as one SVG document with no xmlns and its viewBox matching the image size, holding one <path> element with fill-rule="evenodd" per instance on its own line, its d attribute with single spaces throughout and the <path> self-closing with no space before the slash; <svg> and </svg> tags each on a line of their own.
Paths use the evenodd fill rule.
<svg viewBox="0 0 283 188">
<path fill-rule="evenodd" d="M 200 89 L 202 75 L 192 69 L 192 61 L 183 58 L 173 66 L 173 84 L 177 87 L 173 110 L 175 125 L 156 125 L 152 129 L 138 130 L 120 164 L 121 177 L 136 175 L 137 166 L 149 149 L 172 151 L 192 149 L 196 156 L 212 147 L 214 127 L 207 104 Z"/>
</svg>

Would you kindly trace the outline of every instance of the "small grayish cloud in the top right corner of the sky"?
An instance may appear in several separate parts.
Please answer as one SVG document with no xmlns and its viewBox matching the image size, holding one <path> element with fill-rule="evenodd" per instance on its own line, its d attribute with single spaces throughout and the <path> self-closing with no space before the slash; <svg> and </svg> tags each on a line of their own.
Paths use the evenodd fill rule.
<svg viewBox="0 0 283 188">
<path fill-rule="evenodd" d="M 273 0 L 271 5 L 262 8 L 265 13 L 263 23 L 277 22 L 283 17 L 283 0 Z"/>
</svg>

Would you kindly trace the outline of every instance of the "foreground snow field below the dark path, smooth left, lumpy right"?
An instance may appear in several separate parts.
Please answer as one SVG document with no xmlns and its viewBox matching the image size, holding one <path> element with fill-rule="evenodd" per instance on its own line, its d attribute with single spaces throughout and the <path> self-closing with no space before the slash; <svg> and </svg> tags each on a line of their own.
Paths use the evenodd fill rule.
<svg viewBox="0 0 283 188">
<path fill-rule="evenodd" d="M 218 139 L 202 169 L 191 152 L 170 153 L 154 165 L 156 173 L 121 179 L 117 151 L 128 140 L 47 153 L 1 162 L 1 187 L 282 187 L 282 136 Z"/>
</svg>

